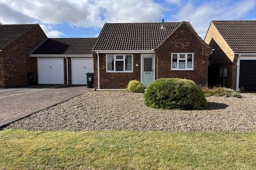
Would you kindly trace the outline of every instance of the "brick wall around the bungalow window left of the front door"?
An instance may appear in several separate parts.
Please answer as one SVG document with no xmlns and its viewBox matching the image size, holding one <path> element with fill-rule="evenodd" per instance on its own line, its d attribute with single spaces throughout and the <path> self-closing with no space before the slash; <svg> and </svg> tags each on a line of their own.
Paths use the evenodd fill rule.
<svg viewBox="0 0 256 170">
<path fill-rule="evenodd" d="M 124 89 L 130 80 L 140 81 L 140 56 L 133 54 L 133 73 L 107 73 L 106 54 L 99 54 L 100 57 L 100 88 L 101 89 Z M 97 54 L 93 53 L 94 66 L 94 88 L 98 88 L 98 65 Z M 138 64 L 138 66 L 136 66 Z"/>
</svg>

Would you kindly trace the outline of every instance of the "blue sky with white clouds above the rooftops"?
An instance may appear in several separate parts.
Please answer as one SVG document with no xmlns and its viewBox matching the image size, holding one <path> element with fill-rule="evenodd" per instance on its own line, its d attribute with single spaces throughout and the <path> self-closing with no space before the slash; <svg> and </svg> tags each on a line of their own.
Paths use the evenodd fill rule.
<svg viewBox="0 0 256 170">
<path fill-rule="evenodd" d="M 48 37 L 97 37 L 106 22 L 256 20 L 256 0 L 0 0 L 3 24 L 39 23 Z"/>
</svg>

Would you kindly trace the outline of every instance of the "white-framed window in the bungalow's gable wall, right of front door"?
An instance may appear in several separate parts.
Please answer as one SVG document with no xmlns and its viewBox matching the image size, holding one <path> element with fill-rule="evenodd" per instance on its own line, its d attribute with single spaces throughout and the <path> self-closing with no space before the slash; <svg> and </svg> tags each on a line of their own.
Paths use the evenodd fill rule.
<svg viewBox="0 0 256 170">
<path fill-rule="evenodd" d="M 172 53 L 171 70 L 194 70 L 194 53 Z"/>
</svg>

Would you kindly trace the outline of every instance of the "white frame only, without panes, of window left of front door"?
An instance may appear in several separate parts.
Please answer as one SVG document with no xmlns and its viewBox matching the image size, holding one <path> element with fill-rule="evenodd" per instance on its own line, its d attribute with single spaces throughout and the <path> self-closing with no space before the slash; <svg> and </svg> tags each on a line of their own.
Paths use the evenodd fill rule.
<svg viewBox="0 0 256 170">
<path fill-rule="evenodd" d="M 123 59 L 116 59 L 116 56 L 123 56 Z M 125 56 L 130 55 L 132 56 L 132 70 L 126 71 L 125 70 Z M 114 71 L 108 70 L 108 56 L 114 56 Z M 116 61 L 123 61 L 124 62 L 124 71 L 116 71 Z M 107 73 L 133 73 L 133 54 L 106 54 L 106 72 Z"/>
</svg>

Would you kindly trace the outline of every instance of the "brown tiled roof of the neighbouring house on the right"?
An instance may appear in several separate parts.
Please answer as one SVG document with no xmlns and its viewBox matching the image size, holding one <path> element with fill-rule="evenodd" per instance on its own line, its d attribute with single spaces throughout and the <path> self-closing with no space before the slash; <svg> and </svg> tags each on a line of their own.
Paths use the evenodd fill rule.
<svg viewBox="0 0 256 170">
<path fill-rule="evenodd" d="M 256 21 L 212 21 L 234 53 L 256 53 Z"/>
</svg>

